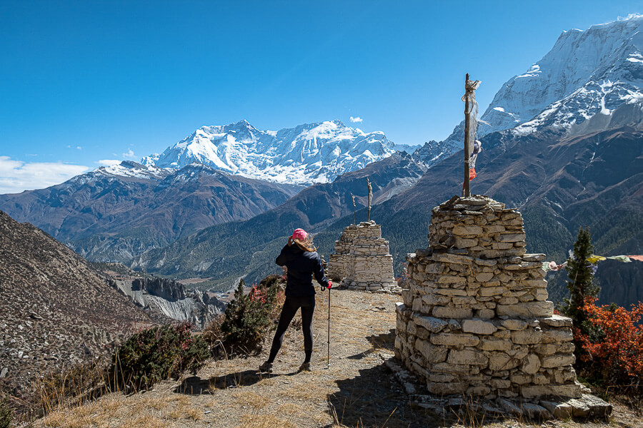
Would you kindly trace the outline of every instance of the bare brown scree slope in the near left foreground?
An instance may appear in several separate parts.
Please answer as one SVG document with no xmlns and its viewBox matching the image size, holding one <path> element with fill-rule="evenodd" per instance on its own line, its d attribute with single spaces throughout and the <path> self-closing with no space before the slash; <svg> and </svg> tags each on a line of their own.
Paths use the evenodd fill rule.
<svg viewBox="0 0 643 428">
<path fill-rule="evenodd" d="M 29 401 L 36 376 L 105 355 L 150 318 L 85 260 L 0 211 L 0 387 Z"/>
</svg>

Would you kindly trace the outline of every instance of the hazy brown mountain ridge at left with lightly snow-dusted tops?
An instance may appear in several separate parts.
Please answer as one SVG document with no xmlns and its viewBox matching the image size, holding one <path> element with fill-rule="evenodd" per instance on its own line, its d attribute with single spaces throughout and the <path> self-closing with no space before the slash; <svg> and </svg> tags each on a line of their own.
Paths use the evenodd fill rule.
<svg viewBox="0 0 643 428">
<path fill-rule="evenodd" d="M 165 170 L 126 161 L 50 188 L 0 195 L 0 209 L 90 260 L 124 261 L 210 225 L 252 218 L 299 190 L 201 164 Z"/>
</svg>

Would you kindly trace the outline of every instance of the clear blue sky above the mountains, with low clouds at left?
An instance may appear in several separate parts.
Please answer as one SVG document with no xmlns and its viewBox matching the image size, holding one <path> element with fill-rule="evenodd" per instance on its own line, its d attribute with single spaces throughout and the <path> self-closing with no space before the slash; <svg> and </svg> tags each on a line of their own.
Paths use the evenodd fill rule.
<svg viewBox="0 0 643 428">
<path fill-rule="evenodd" d="M 643 1 L 0 1 L 0 193 L 158 153 L 202 125 L 339 119 L 449 135 L 567 29 Z"/>
</svg>

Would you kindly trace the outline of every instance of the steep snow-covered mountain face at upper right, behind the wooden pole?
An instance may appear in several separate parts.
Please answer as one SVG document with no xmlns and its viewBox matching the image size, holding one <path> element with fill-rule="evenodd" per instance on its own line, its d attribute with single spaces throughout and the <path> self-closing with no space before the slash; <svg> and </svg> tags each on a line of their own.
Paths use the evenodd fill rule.
<svg viewBox="0 0 643 428">
<path fill-rule="evenodd" d="M 509 79 L 478 124 L 478 136 L 516 128 L 574 131 L 597 114 L 643 100 L 643 16 L 564 31 L 547 55 Z M 475 77 L 475 76 L 474 76 Z M 419 153 L 429 164 L 462 149 L 464 123 Z"/>
</svg>

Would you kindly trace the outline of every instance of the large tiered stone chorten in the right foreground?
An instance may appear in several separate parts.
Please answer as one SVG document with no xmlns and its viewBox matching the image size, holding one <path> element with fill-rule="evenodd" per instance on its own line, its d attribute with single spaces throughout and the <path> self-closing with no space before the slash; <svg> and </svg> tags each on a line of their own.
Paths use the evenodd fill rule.
<svg viewBox="0 0 643 428">
<path fill-rule="evenodd" d="M 429 248 L 407 255 L 396 355 L 437 395 L 580 397 L 572 320 L 547 301 L 543 254 L 522 215 L 484 196 L 432 210 Z"/>
</svg>

